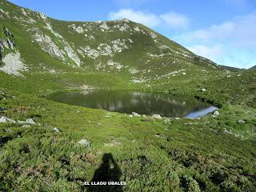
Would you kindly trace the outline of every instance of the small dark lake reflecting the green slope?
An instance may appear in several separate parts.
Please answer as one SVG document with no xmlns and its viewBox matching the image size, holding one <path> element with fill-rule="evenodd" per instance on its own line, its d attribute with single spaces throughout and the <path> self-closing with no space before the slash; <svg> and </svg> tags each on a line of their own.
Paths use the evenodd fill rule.
<svg viewBox="0 0 256 192">
<path fill-rule="evenodd" d="M 217 110 L 206 102 L 186 96 L 137 90 L 90 90 L 80 93 L 58 93 L 50 100 L 75 106 L 86 106 L 120 113 L 160 114 L 166 118 L 198 118 Z"/>
</svg>

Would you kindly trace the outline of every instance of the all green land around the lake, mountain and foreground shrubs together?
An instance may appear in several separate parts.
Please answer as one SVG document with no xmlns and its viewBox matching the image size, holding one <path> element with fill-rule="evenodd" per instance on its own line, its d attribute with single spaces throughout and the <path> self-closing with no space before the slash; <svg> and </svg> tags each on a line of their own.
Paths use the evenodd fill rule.
<svg viewBox="0 0 256 192">
<path fill-rule="evenodd" d="M 112 191 L 256 191 L 255 70 L 224 70 L 127 19 L 64 22 L 3 0 L 0 53 L 0 191 L 95 191 L 82 183 L 110 154 L 126 182 Z M 145 119 L 46 99 L 90 89 L 220 109 Z"/>
</svg>

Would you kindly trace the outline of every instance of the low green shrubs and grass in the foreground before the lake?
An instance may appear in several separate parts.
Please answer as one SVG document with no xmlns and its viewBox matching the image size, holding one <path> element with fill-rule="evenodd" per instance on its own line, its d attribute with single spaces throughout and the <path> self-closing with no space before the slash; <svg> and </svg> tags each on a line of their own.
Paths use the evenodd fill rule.
<svg viewBox="0 0 256 192">
<path fill-rule="evenodd" d="M 2 114 L 36 124 L 0 123 L 1 190 L 86 190 L 82 183 L 112 154 L 124 191 L 255 191 L 254 72 L 206 85 L 205 93 L 193 91 L 199 82 L 184 93 L 222 105 L 217 118 L 154 122 L 2 90 Z"/>
</svg>

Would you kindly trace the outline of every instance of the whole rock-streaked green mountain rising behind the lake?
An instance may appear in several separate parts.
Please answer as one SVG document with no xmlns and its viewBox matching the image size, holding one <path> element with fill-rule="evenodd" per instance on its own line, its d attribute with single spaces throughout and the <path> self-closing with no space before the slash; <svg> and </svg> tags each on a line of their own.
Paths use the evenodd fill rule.
<svg viewBox="0 0 256 192">
<path fill-rule="evenodd" d="M 22 82 L 30 81 L 30 85 L 51 82 L 54 86 L 50 89 L 84 84 L 146 85 L 177 76 L 187 81 L 191 76 L 207 77 L 222 70 L 209 59 L 128 19 L 64 22 L 7 1 L 1 1 L 0 6 L 0 70 L 11 75 L 10 81 L 25 77 Z M 15 66 L 10 63 L 13 59 Z M 114 82 L 102 81 L 110 76 Z M 78 78 L 84 79 L 82 83 Z"/>
</svg>

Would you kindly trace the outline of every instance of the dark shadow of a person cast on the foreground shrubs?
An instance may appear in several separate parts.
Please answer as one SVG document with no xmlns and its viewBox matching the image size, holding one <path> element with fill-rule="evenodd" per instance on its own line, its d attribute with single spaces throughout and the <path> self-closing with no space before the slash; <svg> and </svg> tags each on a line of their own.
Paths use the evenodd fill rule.
<svg viewBox="0 0 256 192">
<path fill-rule="evenodd" d="M 112 154 L 103 154 L 102 164 L 95 170 L 94 178 L 90 181 L 88 191 L 122 191 L 122 186 L 120 185 L 108 185 L 108 182 L 120 182 L 121 174 L 122 172 L 114 161 Z M 98 182 L 106 185 L 95 185 Z"/>
</svg>

